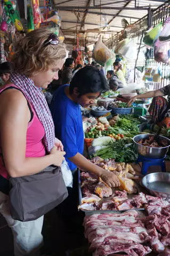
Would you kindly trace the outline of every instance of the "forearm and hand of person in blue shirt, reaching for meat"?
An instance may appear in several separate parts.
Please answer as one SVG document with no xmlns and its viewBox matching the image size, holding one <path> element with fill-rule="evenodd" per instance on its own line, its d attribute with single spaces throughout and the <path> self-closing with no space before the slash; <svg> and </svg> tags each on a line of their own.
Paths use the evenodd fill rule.
<svg viewBox="0 0 170 256">
<path fill-rule="evenodd" d="M 91 163 L 79 153 L 77 153 L 75 156 L 70 157 L 69 160 L 83 170 L 97 174 L 110 187 L 118 187 L 120 185 L 119 179 L 114 173 L 104 170 L 98 165 Z"/>
</svg>

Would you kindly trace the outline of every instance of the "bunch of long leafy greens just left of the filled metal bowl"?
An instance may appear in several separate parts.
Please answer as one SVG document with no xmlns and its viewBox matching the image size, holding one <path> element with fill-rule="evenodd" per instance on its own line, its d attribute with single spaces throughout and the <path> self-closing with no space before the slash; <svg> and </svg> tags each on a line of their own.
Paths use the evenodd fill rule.
<svg viewBox="0 0 170 256">
<path fill-rule="evenodd" d="M 132 140 L 118 140 L 110 143 L 106 148 L 96 151 L 94 156 L 99 156 L 103 159 L 114 158 L 116 162 L 133 163 L 137 159 L 137 151 L 132 143 Z"/>
</svg>

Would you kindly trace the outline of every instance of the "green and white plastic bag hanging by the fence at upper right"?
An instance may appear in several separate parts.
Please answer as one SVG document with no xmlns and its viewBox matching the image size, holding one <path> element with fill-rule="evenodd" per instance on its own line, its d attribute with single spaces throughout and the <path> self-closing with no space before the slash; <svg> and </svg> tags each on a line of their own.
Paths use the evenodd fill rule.
<svg viewBox="0 0 170 256">
<path fill-rule="evenodd" d="M 160 22 L 158 23 L 154 28 L 151 27 L 148 31 L 147 34 L 143 37 L 143 43 L 148 46 L 153 46 L 155 41 L 160 35 L 161 29 L 163 27 L 163 23 Z"/>
</svg>

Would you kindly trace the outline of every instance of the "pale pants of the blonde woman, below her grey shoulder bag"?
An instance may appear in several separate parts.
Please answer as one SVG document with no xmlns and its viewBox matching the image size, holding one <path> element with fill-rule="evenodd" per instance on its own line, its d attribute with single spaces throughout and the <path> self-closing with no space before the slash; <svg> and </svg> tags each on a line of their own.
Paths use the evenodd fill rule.
<svg viewBox="0 0 170 256">
<path fill-rule="evenodd" d="M 12 229 L 15 256 L 38 256 L 43 245 L 43 218 L 22 222 L 13 220 L 10 214 L 9 196 L 0 191 L 0 213 Z"/>
</svg>

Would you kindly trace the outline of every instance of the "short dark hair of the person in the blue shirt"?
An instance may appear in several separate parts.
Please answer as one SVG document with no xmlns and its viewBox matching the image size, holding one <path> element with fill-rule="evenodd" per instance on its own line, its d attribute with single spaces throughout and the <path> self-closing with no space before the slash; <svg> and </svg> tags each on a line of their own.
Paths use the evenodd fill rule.
<svg viewBox="0 0 170 256">
<path fill-rule="evenodd" d="M 79 97 L 90 92 L 108 91 L 109 86 L 107 80 L 99 69 L 92 66 L 81 68 L 70 83 L 70 94 L 73 93 L 74 88 L 77 87 Z"/>
</svg>

